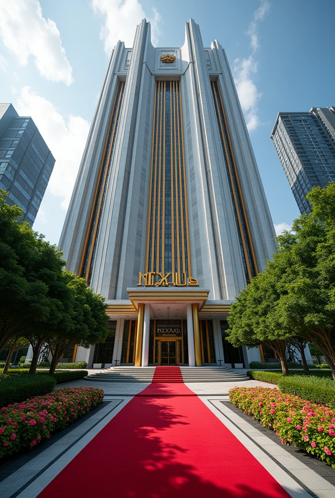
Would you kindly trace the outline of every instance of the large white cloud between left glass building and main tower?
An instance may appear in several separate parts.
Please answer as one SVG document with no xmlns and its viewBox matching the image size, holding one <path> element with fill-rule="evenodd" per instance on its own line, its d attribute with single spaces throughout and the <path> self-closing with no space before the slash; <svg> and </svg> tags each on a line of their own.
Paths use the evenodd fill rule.
<svg viewBox="0 0 335 498">
<path fill-rule="evenodd" d="M 20 116 L 31 116 L 56 159 L 49 189 L 62 198 L 61 207 L 67 209 L 90 124 L 72 115 L 66 122 L 51 102 L 29 87 L 22 88 L 15 109 Z"/>
</svg>

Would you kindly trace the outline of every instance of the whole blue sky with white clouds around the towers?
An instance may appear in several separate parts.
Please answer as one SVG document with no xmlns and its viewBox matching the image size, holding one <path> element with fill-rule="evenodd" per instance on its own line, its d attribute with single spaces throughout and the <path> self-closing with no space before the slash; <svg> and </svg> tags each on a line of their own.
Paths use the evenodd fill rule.
<svg viewBox="0 0 335 498">
<path fill-rule="evenodd" d="M 58 243 L 111 47 L 142 17 L 156 46 L 184 23 L 225 48 L 278 230 L 299 210 L 270 139 L 280 111 L 335 105 L 331 0 L 0 0 L 0 102 L 32 116 L 56 164 L 34 229 Z"/>
</svg>

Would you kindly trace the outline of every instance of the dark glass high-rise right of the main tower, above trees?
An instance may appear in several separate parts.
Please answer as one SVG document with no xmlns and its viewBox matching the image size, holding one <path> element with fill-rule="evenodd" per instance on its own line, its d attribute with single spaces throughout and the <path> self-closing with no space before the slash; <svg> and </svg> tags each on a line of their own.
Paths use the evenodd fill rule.
<svg viewBox="0 0 335 498">
<path fill-rule="evenodd" d="M 335 108 L 279 113 L 271 138 L 300 212 L 309 213 L 306 194 L 335 181 Z"/>
</svg>

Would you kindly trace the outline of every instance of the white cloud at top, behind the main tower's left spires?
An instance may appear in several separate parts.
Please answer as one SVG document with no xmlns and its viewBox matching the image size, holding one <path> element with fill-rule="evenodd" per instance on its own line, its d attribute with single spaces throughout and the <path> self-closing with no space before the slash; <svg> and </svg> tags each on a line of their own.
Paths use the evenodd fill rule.
<svg viewBox="0 0 335 498">
<path fill-rule="evenodd" d="M 106 16 L 100 38 L 104 40 L 107 55 L 110 55 L 118 40 L 124 41 L 126 47 L 133 46 L 136 26 L 144 17 L 151 22 L 153 45 L 158 43 L 161 16 L 156 8 L 150 15 L 145 13 L 138 0 L 91 0 L 91 4 L 95 12 Z"/>
</svg>

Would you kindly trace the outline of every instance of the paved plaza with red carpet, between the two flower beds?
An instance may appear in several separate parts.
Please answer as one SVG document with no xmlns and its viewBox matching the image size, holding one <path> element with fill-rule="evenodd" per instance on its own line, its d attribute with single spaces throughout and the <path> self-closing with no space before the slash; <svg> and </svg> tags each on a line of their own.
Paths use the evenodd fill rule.
<svg viewBox="0 0 335 498">
<path fill-rule="evenodd" d="M 104 403 L 33 452 L 5 462 L 1 498 L 335 497 L 334 469 L 283 446 L 228 401 L 235 385 L 271 384 L 65 385 L 101 387 Z"/>
</svg>

